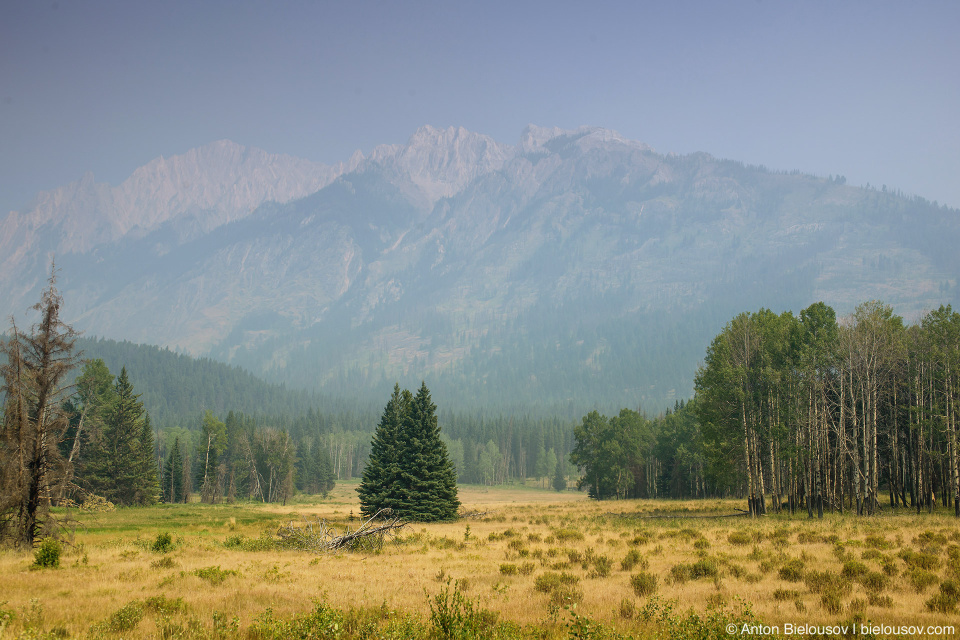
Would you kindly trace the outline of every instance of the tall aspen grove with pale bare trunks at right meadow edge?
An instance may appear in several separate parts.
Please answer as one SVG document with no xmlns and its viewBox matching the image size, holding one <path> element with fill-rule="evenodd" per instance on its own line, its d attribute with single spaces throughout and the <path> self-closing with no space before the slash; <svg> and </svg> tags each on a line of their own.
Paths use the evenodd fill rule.
<svg viewBox="0 0 960 640">
<path fill-rule="evenodd" d="M 756 512 L 940 501 L 960 515 L 960 314 L 949 306 L 912 326 L 881 302 L 841 322 L 823 303 L 743 313 L 714 339 L 696 389 L 714 490 Z"/>
</svg>

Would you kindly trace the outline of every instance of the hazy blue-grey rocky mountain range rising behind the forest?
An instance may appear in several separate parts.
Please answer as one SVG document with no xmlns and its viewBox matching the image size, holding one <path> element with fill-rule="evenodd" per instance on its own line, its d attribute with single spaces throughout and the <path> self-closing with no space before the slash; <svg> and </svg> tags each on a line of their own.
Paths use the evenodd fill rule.
<svg viewBox="0 0 960 640">
<path fill-rule="evenodd" d="M 600 128 L 424 127 L 335 166 L 219 141 L 0 223 L 0 311 L 59 269 L 90 335 L 385 398 L 577 412 L 692 393 L 733 315 L 950 303 L 960 212 Z"/>
</svg>

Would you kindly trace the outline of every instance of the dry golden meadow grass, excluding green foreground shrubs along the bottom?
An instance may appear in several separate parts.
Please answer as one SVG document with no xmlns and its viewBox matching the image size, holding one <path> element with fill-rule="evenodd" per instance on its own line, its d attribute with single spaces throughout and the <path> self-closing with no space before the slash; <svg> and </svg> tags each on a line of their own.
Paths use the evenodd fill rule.
<svg viewBox="0 0 960 640">
<path fill-rule="evenodd" d="M 638 574 L 654 576 L 655 597 L 676 600 L 676 610 L 702 612 L 741 598 L 766 624 L 865 619 L 960 629 L 956 607 L 927 607 L 941 583 L 960 583 L 960 527 L 946 513 L 712 519 L 696 516 L 732 513 L 740 503 L 597 503 L 531 487 L 462 487 L 465 509 L 486 516 L 410 525 L 398 544 L 376 555 L 224 546 L 232 536 L 272 536 L 301 515 L 355 525 L 355 487 L 341 483 L 326 500 L 286 507 L 193 504 L 76 514 L 81 526 L 59 569 L 32 569 L 32 555 L 0 553 L 0 610 L 16 614 L 7 633 L 33 625 L 82 636 L 131 601 L 158 596 L 182 598 L 207 627 L 216 614 L 237 617 L 244 629 L 267 608 L 289 617 L 314 600 L 426 616 L 428 598 L 448 584 L 521 624 L 562 620 L 567 597 L 580 600 L 579 613 L 637 633 L 635 616 L 650 597 L 636 595 L 631 580 Z M 691 517 L 636 517 L 658 512 Z M 170 553 L 150 549 L 162 532 L 173 534 Z M 218 573 L 210 567 L 220 568 L 222 581 L 210 579 Z M 551 572 L 576 584 L 556 596 L 538 590 L 538 578 Z M 153 625 L 145 618 L 136 633 L 157 634 Z"/>
</svg>

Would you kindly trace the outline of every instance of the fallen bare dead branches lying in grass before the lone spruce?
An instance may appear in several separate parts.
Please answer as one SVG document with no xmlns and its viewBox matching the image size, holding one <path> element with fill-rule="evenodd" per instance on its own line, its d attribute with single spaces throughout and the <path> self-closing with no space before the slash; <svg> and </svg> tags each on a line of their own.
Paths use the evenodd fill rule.
<svg viewBox="0 0 960 640">
<path fill-rule="evenodd" d="M 387 539 L 397 535 L 406 526 L 406 522 L 393 515 L 393 510 L 381 509 L 353 531 L 347 528 L 339 533 L 323 518 L 311 520 L 302 517 L 299 523 L 291 520 L 281 526 L 277 536 L 283 547 L 312 553 L 343 550 L 377 552 L 383 549 Z"/>
</svg>

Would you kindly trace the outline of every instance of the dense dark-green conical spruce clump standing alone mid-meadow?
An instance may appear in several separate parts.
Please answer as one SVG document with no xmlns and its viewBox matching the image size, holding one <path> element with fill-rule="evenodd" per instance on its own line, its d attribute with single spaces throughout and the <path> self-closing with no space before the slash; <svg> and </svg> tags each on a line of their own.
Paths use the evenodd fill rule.
<svg viewBox="0 0 960 640">
<path fill-rule="evenodd" d="M 457 476 L 440 438 L 436 409 L 426 384 L 416 397 L 394 386 L 357 489 L 364 516 L 391 508 L 422 522 L 456 518 Z"/>
</svg>

